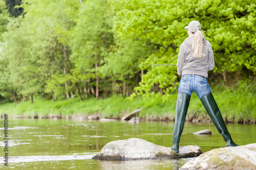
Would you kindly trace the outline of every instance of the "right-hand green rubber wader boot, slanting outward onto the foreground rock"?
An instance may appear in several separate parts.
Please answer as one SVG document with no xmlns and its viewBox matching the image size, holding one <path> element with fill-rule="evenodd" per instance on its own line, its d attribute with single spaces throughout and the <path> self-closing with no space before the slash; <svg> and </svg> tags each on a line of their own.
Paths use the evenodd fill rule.
<svg viewBox="0 0 256 170">
<path fill-rule="evenodd" d="M 219 133 L 222 135 L 225 142 L 227 143 L 227 147 L 237 147 L 238 144 L 233 142 L 222 118 L 220 109 L 217 106 L 217 103 L 215 102 L 214 96 L 212 96 L 211 92 L 203 95 L 200 100 L 204 105 L 204 108 L 210 116 L 215 127 L 218 129 Z"/>
</svg>

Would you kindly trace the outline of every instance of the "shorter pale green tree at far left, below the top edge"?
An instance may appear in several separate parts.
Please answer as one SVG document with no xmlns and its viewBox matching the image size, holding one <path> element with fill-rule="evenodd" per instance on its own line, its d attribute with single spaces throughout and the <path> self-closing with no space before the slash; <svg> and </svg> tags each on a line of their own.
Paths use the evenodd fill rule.
<svg viewBox="0 0 256 170">
<path fill-rule="evenodd" d="M 33 94 L 40 89 L 37 80 L 38 64 L 31 57 L 31 38 L 26 22 L 22 17 L 13 18 L 8 23 L 8 32 L 4 35 L 4 56 L 8 60 L 9 80 L 17 89 L 19 96 L 29 96 L 33 103 Z"/>
</svg>

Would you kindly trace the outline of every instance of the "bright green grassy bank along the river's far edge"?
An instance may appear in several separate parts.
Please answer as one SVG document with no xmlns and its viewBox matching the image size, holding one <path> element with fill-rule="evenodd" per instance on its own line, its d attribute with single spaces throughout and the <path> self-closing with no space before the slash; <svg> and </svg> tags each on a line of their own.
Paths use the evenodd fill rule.
<svg viewBox="0 0 256 170">
<path fill-rule="evenodd" d="M 255 123 L 256 122 L 256 94 L 254 86 L 240 83 L 239 86 L 224 88 L 221 85 L 215 87 L 212 93 L 221 110 L 224 119 L 232 123 Z M 9 116 L 24 117 L 65 117 L 68 115 L 88 116 L 91 114 L 101 114 L 102 117 L 120 118 L 122 112 L 133 111 L 142 108 L 139 116 L 151 120 L 173 120 L 175 116 L 177 91 L 170 94 L 168 99 L 163 100 L 162 96 L 154 98 L 142 98 L 141 96 L 134 101 L 125 100 L 119 95 L 111 96 L 108 99 L 90 98 L 86 101 L 79 99 L 45 101 L 35 100 L 34 103 L 21 102 L 17 106 L 14 103 L 0 105 L 0 114 L 7 113 Z M 206 120 L 206 115 L 200 100 L 193 92 L 188 108 L 187 118 L 191 121 Z"/>
</svg>

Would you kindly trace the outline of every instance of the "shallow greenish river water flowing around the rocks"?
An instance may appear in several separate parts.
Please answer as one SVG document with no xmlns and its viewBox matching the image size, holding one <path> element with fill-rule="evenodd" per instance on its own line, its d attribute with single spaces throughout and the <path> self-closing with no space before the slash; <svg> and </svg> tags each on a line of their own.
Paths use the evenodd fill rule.
<svg viewBox="0 0 256 170">
<path fill-rule="evenodd" d="M 4 119 L 0 119 L 4 125 Z M 173 122 L 88 122 L 67 119 L 8 119 L 8 168 L 4 165 L 4 126 L 1 129 L 1 164 L 6 169 L 178 169 L 193 158 L 178 160 L 93 160 L 113 140 L 141 138 L 172 146 Z M 239 145 L 256 142 L 255 125 L 227 125 Z M 209 129 L 212 135 L 194 135 Z M 186 123 L 180 146 L 198 145 L 202 152 L 225 147 L 211 123 Z"/>
</svg>

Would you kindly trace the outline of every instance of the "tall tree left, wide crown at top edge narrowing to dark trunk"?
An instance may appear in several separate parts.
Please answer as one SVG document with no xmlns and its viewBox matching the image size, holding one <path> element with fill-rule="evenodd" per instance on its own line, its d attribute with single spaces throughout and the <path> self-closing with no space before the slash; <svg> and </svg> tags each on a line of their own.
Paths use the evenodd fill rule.
<svg viewBox="0 0 256 170">
<path fill-rule="evenodd" d="M 79 2 L 71 1 L 30 1 L 24 5 L 25 19 L 30 21 L 32 37 L 32 56 L 38 58 L 39 78 L 45 81 L 44 89 L 52 99 L 66 93 L 73 94 L 69 60 L 69 32 L 76 24 Z M 55 95 L 55 96 L 54 96 Z"/>
</svg>

